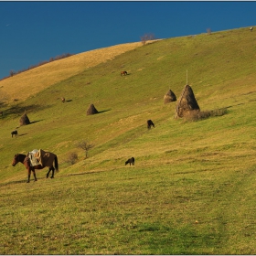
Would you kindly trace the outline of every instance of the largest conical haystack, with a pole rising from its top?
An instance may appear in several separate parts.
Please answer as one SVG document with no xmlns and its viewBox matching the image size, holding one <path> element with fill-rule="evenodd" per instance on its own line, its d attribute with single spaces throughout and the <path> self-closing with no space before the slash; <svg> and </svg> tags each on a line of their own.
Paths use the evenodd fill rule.
<svg viewBox="0 0 256 256">
<path fill-rule="evenodd" d="M 183 117 L 186 112 L 200 111 L 194 92 L 189 85 L 186 85 L 176 104 L 176 118 Z"/>
</svg>

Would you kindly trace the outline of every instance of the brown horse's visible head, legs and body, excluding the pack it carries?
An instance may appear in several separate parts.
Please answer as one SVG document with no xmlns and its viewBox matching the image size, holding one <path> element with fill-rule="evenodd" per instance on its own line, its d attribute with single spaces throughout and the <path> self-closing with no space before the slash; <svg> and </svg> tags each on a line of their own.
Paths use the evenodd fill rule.
<svg viewBox="0 0 256 256">
<path fill-rule="evenodd" d="M 30 165 L 30 159 L 27 155 L 23 155 L 23 154 L 16 154 L 14 159 L 13 159 L 13 163 L 12 165 L 15 166 L 17 163 L 22 163 L 23 165 L 26 166 L 27 168 L 27 183 L 29 183 L 30 181 L 30 176 L 31 176 L 31 172 L 33 172 L 33 175 L 34 175 L 34 178 L 35 178 L 35 181 L 37 181 L 37 176 L 36 176 L 36 171 L 35 169 L 43 169 L 44 167 L 47 167 L 47 166 L 43 166 L 43 165 L 35 165 L 35 166 L 31 166 Z M 54 168 L 55 167 L 55 168 Z M 50 178 L 53 178 L 54 177 L 54 171 L 56 169 L 56 171 L 58 172 L 59 171 L 59 164 L 58 164 L 58 158 L 57 156 L 55 156 L 54 158 L 54 167 L 53 167 L 53 163 L 51 166 L 48 166 L 48 174 L 47 174 L 47 177 L 49 176 L 49 173 L 50 171 L 52 171 L 51 173 L 51 177 Z"/>
</svg>

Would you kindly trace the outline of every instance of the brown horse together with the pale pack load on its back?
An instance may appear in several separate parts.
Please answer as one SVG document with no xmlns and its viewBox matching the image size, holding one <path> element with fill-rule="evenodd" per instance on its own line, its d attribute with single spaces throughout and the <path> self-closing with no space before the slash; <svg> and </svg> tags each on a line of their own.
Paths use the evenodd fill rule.
<svg viewBox="0 0 256 256">
<path fill-rule="evenodd" d="M 51 178 L 54 177 L 55 170 L 59 172 L 57 155 L 51 152 L 46 152 L 42 149 L 34 150 L 32 152 L 29 152 L 27 155 L 16 154 L 13 159 L 12 165 L 15 166 L 17 163 L 21 163 L 25 165 L 25 167 L 27 168 L 27 183 L 30 182 L 31 172 L 33 173 L 35 181 L 37 181 L 37 176 L 35 171 L 36 169 L 40 170 L 45 167 L 48 167 L 47 177 L 49 176 L 49 173 L 51 171 L 52 172 Z"/>
</svg>

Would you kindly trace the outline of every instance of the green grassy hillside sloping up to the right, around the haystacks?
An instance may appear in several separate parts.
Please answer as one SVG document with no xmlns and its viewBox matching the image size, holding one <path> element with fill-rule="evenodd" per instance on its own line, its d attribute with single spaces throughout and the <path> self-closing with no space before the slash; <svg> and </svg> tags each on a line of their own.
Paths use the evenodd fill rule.
<svg viewBox="0 0 256 256">
<path fill-rule="evenodd" d="M 255 253 L 255 48 L 248 28 L 168 38 L 6 105 L 2 254 Z M 187 83 L 201 111 L 228 113 L 175 119 L 176 102 L 163 98 Z M 91 103 L 100 113 L 86 115 Z M 11 138 L 25 111 L 32 123 Z M 87 159 L 82 140 L 94 144 Z M 55 179 L 45 169 L 27 184 L 25 167 L 11 166 L 34 148 L 59 156 Z"/>
</svg>

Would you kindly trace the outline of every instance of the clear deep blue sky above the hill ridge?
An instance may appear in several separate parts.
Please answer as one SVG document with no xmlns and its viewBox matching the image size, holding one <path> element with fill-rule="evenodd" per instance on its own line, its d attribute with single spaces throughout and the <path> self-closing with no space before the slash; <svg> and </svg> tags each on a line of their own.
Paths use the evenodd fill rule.
<svg viewBox="0 0 256 256">
<path fill-rule="evenodd" d="M 64 53 L 256 26 L 256 2 L 1 2 L 0 79 Z M 255 29 L 256 33 L 256 29 Z"/>
</svg>

